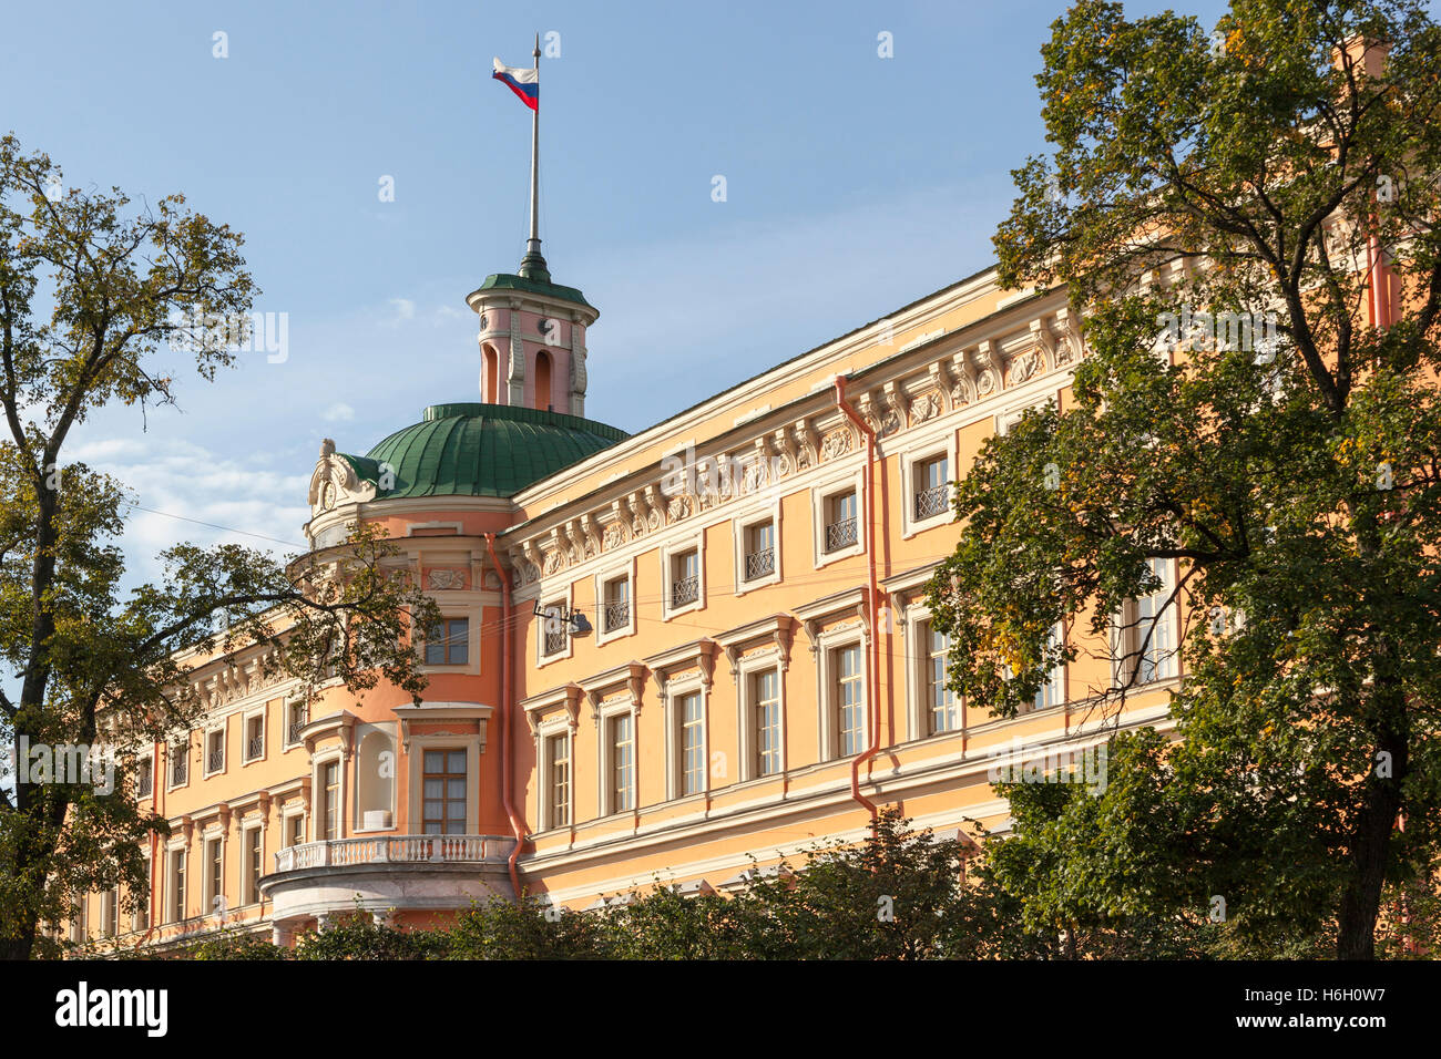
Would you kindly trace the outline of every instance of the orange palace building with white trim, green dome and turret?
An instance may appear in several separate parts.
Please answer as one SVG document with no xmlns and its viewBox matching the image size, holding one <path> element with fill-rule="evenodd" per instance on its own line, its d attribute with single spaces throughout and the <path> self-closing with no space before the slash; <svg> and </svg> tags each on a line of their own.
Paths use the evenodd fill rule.
<svg viewBox="0 0 1441 1059">
<path fill-rule="evenodd" d="M 925 609 L 953 480 L 1069 401 L 1063 292 L 986 271 L 628 437 L 584 418 L 598 311 L 578 290 L 527 256 L 467 301 L 481 402 L 366 455 L 327 441 L 308 497 L 314 548 L 380 523 L 440 605 L 424 702 L 305 703 L 254 653 L 193 660 L 203 723 L 131 765 L 171 824 L 151 892 L 134 915 L 92 895 L 72 939 L 287 942 L 357 906 L 429 924 L 517 888 L 568 908 L 728 892 L 859 839 L 878 805 L 1004 831 L 997 767 L 1102 741 L 1084 700 L 1110 663 L 1082 656 L 997 720 L 944 687 Z M 1127 723 L 1169 725 L 1177 641 L 1148 645 Z"/>
</svg>

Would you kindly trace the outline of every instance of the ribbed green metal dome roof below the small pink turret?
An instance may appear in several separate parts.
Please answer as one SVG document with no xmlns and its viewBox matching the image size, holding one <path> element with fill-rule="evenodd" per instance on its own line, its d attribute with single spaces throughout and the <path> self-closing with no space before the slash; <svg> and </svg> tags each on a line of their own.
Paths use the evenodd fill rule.
<svg viewBox="0 0 1441 1059">
<path fill-rule="evenodd" d="M 421 422 L 396 431 L 363 457 L 344 455 L 378 486 L 382 464 L 393 497 L 509 497 L 628 435 L 563 412 L 509 405 L 431 405 Z"/>
</svg>

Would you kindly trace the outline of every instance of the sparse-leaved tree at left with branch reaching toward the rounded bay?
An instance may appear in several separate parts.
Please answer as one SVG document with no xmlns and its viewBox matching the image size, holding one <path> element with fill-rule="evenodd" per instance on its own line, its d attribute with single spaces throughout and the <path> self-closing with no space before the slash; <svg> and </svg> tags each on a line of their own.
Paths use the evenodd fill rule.
<svg viewBox="0 0 1441 1059">
<path fill-rule="evenodd" d="M 0 654 L 13 674 L 0 739 L 53 762 L 99 739 L 124 756 L 183 732 L 199 710 L 183 651 L 267 645 L 267 667 L 307 687 L 333 673 L 357 692 L 389 680 L 418 694 L 408 622 L 431 621 L 434 604 L 385 575 L 392 549 L 372 529 L 290 563 L 183 545 L 163 556 L 163 584 L 122 598 L 124 487 L 63 463 L 66 442 L 102 406 L 173 405 L 163 346 L 212 380 L 256 292 L 236 232 L 179 195 L 128 206 L 118 189 L 65 190 L 46 156 L 0 140 Z M 122 774 L 107 794 L 75 768 L 33 775 L 27 758 L 0 788 L 6 958 L 29 957 L 37 925 L 79 895 L 148 892 L 140 840 L 166 830 Z"/>
</svg>

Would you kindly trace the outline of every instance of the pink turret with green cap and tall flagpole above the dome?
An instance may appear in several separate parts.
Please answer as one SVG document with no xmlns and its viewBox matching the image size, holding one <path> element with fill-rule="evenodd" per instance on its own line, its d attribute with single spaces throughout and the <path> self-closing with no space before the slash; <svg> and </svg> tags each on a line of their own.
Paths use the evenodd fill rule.
<svg viewBox="0 0 1441 1059">
<path fill-rule="evenodd" d="M 499 61 L 497 61 L 499 62 Z M 539 85 L 540 36 L 535 82 Z M 514 274 L 486 277 L 465 297 L 480 317 L 480 399 L 585 415 L 585 333 L 601 316 L 575 287 L 552 282 L 540 254 L 540 107 L 530 112 L 530 238 Z"/>
</svg>

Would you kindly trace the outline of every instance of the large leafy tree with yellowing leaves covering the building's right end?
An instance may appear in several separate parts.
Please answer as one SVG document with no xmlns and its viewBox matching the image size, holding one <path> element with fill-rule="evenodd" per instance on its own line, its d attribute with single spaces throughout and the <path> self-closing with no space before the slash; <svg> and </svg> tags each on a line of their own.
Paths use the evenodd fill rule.
<svg viewBox="0 0 1441 1059">
<path fill-rule="evenodd" d="M 1114 720 L 1179 615 L 1180 742 L 1058 807 L 1068 870 L 1114 913 L 1219 895 L 1254 939 L 1369 958 L 1441 824 L 1441 33 L 1412 0 L 1233 0 L 1215 35 L 1082 0 L 1042 56 L 1053 153 L 1014 173 L 1000 278 L 1065 284 L 1089 356 L 960 483 L 951 683 L 1009 716 L 1130 624 L 1089 693 Z"/>
</svg>

